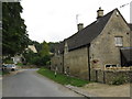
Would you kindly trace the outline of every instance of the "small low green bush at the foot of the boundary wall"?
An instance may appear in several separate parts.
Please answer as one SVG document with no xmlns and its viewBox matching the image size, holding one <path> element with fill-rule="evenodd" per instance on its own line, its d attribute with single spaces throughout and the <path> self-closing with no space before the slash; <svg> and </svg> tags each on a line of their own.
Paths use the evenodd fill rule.
<svg viewBox="0 0 132 99">
<path fill-rule="evenodd" d="M 113 78 L 112 80 L 112 85 L 122 85 L 125 82 L 125 77 L 124 76 L 117 76 L 116 78 Z"/>
</svg>

